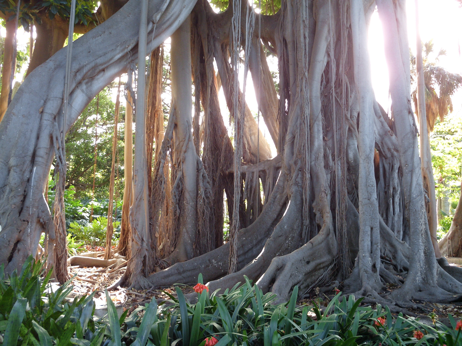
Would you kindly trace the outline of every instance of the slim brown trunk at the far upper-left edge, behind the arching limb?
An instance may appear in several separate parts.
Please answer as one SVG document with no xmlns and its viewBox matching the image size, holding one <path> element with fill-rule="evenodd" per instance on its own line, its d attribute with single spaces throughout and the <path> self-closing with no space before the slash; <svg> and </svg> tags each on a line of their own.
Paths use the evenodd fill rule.
<svg viewBox="0 0 462 346">
<path fill-rule="evenodd" d="M 1 70 L 1 94 L 0 94 L 0 122 L 8 108 L 8 95 L 10 94 L 11 74 L 13 66 L 16 66 L 16 57 L 13 56 L 13 40 L 16 31 L 16 20 L 6 22 L 5 45 L 3 48 L 3 65 Z"/>
</svg>

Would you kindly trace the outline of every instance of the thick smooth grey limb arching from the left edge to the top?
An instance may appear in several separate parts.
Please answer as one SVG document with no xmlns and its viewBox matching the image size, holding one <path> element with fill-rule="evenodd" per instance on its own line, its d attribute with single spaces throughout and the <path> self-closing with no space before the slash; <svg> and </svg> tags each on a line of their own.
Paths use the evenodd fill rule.
<svg viewBox="0 0 462 346">
<path fill-rule="evenodd" d="M 148 51 L 176 30 L 195 1 L 171 0 L 159 13 L 164 4 L 149 2 Z M 74 42 L 65 131 L 91 99 L 137 58 L 139 24 L 140 0 L 130 0 Z M 26 257 L 36 252 L 42 232 L 54 238 L 43 191 L 54 157 L 53 129 L 62 122 L 65 68 L 66 50 L 61 49 L 24 80 L 0 123 L 0 262 L 7 273 L 19 270 Z"/>
</svg>

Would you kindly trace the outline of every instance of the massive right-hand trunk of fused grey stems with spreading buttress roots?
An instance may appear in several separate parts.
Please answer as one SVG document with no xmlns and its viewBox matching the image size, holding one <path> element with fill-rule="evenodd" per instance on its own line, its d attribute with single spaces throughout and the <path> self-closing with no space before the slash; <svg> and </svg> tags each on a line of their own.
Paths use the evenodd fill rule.
<svg viewBox="0 0 462 346">
<path fill-rule="evenodd" d="M 214 290 L 231 287 L 247 275 L 264 291 L 271 290 L 285 299 L 294 285 L 299 285 L 301 292 L 321 286 L 346 258 L 356 258 L 348 287 L 353 292 L 359 290 L 360 295 L 383 299 L 377 292 L 383 282 L 399 282 L 398 273 L 406 283 L 385 297 L 389 303 L 414 297 L 448 300 L 462 292 L 461 284 L 437 264 L 430 240 L 417 131 L 410 109 L 403 6 L 401 2 L 394 6 L 389 0 L 378 4 L 388 35 L 387 58 L 394 70 L 390 73 L 394 105 L 390 121 L 374 100 L 371 88 L 365 23 L 372 3 L 352 0 L 346 6 L 283 1 L 272 20 L 262 17 L 265 35 L 276 33 L 265 40 L 275 42 L 280 60 L 278 140 L 285 144 L 278 182 L 260 217 L 238 235 L 236 273 L 225 275 L 230 251 L 226 244 L 152 274 L 143 285 L 192 284 L 201 272 Z M 200 4 L 202 7 L 196 6 L 199 18 L 207 18 L 212 28 L 219 22 L 222 29 L 213 31 L 207 47 L 213 44 L 232 109 L 231 95 L 226 95 L 232 73 L 220 36 L 230 23 L 232 8 L 215 15 L 204 1 Z M 268 29 L 274 18 L 278 26 Z M 226 32 L 223 35 L 229 37 Z M 255 55 L 249 58 L 255 59 Z M 397 136 L 389 127 L 393 121 L 399 129 Z M 374 147 L 380 158 L 377 176 Z M 310 160 L 306 160 L 307 155 Z M 245 172 L 250 169 L 255 165 Z M 268 220 L 268 213 L 274 217 Z M 264 233 L 255 238 L 257 230 Z M 409 251 L 419 251 L 419 256 L 409 258 Z M 259 255 L 253 258 L 255 253 Z M 346 265 L 344 275 L 350 266 Z"/>
</svg>

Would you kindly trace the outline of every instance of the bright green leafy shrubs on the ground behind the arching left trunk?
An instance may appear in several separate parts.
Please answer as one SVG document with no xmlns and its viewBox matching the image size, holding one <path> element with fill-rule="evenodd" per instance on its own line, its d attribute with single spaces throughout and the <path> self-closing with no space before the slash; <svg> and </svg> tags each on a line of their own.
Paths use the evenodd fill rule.
<svg viewBox="0 0 462 346">
<path fill-rule="evenodd" d="M 75 239 L 81 240 L 86 244 L 104 246 L 106 243 L 107 224 L 108 218 L 104 216 L 98 216 L 86 226 L 82 226 L 76 221 L 73 221 L 69 225 L 68 232 L 72 234 Z M 120 236 L 120 230 L 117 229 L 120 226 L 120 222 L 114 221 L 112 226 L 114 227 L 112 239 L 116 240 Z"/>
</svg>

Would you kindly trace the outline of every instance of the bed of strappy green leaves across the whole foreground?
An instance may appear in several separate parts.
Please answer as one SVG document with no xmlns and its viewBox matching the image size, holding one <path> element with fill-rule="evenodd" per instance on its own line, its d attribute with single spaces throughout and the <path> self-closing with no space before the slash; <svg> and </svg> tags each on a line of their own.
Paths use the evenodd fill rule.
<svg viewBox="0 0 462 346">
<path fill-rule="evenodd" d="M 216 346 L 357 346 L 357 345 L 448 345 L 462 346 L 457 322 L 450 327 L 431 316 L 433 326 L 399 314 L 395 320 L 388 307 L 361 307 L 362 299 L 337 294 L 324 310 L 297 307 L 297 286 L 288 303 L 273 304 L 272 293 L 263 294 L 246 278 L 223 294 L 203 290 L 195 304 L 189 304 L 179 287 L 177 297 L 159 306 L 153 298 L 127 317 L 117 311 L 106 291 L 108 314 L 93 316 L 93 294 L 66 302 L 70 282 L 56 292 L 49 289 L 49 275 L 43 278 L 43 264 L 32 257 L 18 275 L 6 279 L 0 269 L 0 334 L 3 345 L 160 345 L 204 346 L 207 338 Z M 199 277 L 201 282 L 201 275 Z M 460 323 L 460 322 L 459 322 Z M 421 339 L 415 333 L 421 333 Z M 419 336 L 419 335 L 416 335 Z"/>
</svg>

